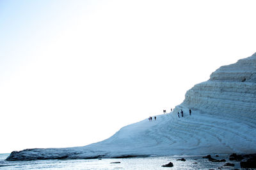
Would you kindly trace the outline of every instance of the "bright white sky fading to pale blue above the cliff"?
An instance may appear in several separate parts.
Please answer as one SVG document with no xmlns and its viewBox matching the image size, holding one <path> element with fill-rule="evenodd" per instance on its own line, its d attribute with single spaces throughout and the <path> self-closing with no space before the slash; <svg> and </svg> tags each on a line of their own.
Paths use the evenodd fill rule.
<svg viewBox="0 0 256 170">
<path fill-rule="evenodd" d="M 84 146 L 256 52 L 255 1 L 0 0 L 0 153 Z"/>
</svg>

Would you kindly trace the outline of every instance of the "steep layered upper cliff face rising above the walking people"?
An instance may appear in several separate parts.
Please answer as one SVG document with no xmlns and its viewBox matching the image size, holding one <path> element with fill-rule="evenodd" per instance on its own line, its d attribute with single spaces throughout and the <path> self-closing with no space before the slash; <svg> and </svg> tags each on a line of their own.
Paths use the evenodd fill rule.
<svg viewBox="0 0 256 170">
<path fill-rule="evenodd" d="M 255 124 L 256 53 L 214 71 L 208 81 L 188 90 L 181 106 Z"/>
</svg>

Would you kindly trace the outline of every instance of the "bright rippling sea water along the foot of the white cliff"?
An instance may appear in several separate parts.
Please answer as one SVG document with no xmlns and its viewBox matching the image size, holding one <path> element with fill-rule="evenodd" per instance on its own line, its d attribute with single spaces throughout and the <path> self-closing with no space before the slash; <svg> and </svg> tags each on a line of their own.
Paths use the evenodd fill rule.
<svg viewBox="0 0 256 170">
<path fill-rule="evenodd" d="M 80 160 L 33 160 L 8 162 L 4 159 L 9 154 L 0 154 L 0 169 L 239 169 L 239 162 L 233 162 L 235 167 L 223 166 L 225 162 L 209 162 L 202 159 L 204 155 L 196 156 L 166 156 L 129 159 L 80 159 Z M 186 159 L 182 162 L 180 158 Z M 213 157 L 213 155 L 212 155 Z M 215 158 L 215 157 L 214 157 Z M 228 155 L 220 155 L 216 159 L 226 159 Z M 111 164 L 111 162 L 120 162 Z M 173 167 L 161 167 L 169 162 Z M 197 162 L 197 164 L 194 164 Z"/>
</svg>

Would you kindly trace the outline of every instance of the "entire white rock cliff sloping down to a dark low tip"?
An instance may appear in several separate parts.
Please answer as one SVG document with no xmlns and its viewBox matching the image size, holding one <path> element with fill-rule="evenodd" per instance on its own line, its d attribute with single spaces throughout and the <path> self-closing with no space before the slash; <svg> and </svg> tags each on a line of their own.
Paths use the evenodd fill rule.
<svg viewBox="0 0 256 170">
<path fill-rule="evenodd" d="M 177 112 L 184 111 L 184 117 Z M 189 109 L 192 115 L 189 116 Z M 111 138 L 75 148 L 13 152 L 7 160 L 256 153 L 256 53 L 195 85 L 172 113 L 127 125 Z"/>
</svg>

